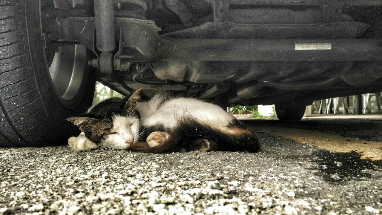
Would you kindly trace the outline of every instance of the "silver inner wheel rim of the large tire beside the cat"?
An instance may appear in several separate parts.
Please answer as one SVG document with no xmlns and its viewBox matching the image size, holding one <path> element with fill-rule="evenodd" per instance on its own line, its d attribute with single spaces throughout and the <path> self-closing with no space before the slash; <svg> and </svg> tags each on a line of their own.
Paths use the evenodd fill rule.
<svg viewBox="0 0 382 215">
<path fill-rule="evenodd" d="M 81 102 L 87 80 L 88 54 L 83 45 L 62 46 L 49 67 L 52 85 L 60 103 L 73 109 Z"/>
</svg>

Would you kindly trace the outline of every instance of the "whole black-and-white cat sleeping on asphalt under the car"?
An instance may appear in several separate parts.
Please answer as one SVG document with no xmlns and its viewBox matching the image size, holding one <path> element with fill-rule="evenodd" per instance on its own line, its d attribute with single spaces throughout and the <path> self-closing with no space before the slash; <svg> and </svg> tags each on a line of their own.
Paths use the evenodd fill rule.
<svg viewBox="0 0 382 215">
<path fill-rule="evenodd" d="M 215 104 L 199 99 L 156 94 L 139 102 L 139 92 L 110 98 L 85 114 L 70 117 L 82 131 L 68 139 L 71 150 L 257 151 L 254 132 Z M 149 134 L 149 135 L 147 135 Z"/>
</svg>

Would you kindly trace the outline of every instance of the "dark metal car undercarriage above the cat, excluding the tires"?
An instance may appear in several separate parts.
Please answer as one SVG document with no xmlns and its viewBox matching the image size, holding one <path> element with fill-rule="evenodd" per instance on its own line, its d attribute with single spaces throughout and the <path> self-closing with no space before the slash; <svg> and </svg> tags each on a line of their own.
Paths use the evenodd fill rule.
<svg viewBox="0 0 382 215">
<path fill-rule="evenodd" d="M 122 94 L 143 86 L 222 106 L 309 104 L 381 86 L 380 1 L 91 4 L 42 11 L 45 39 L 84 44 L 98 80 Z"/>
</svg>

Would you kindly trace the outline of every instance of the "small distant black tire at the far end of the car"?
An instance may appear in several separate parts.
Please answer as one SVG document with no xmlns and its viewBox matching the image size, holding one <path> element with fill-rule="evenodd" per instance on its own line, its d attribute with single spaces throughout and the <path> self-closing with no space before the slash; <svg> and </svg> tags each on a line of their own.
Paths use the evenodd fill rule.
<svg viewBox="0 0 382 215">
<path fill-rule="evenodd" d="M 280 120 L 301 120 L 306 105 L 296 104 L 294 101 L 275 104 L 277 118 Z"/>
</svg>

